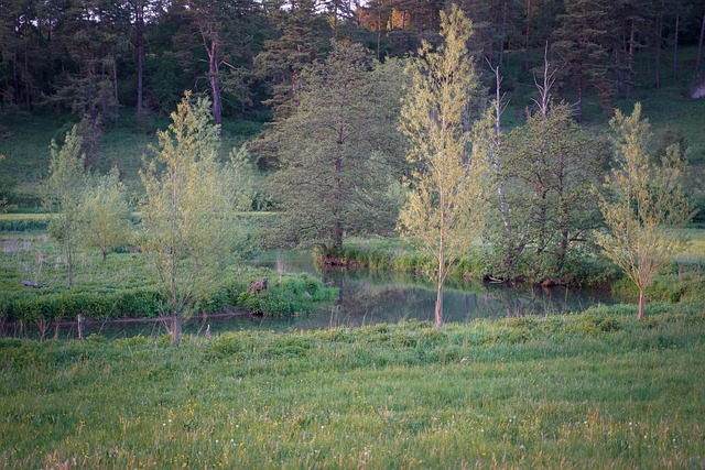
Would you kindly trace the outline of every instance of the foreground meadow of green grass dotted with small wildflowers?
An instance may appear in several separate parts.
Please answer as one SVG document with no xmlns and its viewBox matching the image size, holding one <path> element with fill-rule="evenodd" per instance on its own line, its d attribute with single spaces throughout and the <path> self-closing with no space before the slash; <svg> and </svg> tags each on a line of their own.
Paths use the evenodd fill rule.
<svg viewBox="0 0 705 470">
<path fill-rule="evenodd" d="M 702 468 L 705 314 L 663 309 L 0 340 L 0 468 Z"/>
</svg>

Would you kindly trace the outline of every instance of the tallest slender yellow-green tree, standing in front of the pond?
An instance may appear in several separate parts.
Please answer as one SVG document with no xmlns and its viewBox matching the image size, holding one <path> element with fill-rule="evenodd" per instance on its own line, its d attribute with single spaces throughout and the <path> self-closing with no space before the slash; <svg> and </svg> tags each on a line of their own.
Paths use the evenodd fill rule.
<svg viewBox="0 0 705 470">
<path fill-rule="evenodd" d="M 467 154 L 470 134 L 464 111 L 477 88 L 466 43 L 471 22 L 457 6 L 442 13 L 443 45 L 425 43 L 408 68 L 412 85 L 401 112 L 408 160 L 415 166 L 408 201 L 399 217 L 402 236 L 436 263 L 436 327 L 443 326 L 443 284 L 469 250 L 482 220 L 481 160 Z"/>
</svg>

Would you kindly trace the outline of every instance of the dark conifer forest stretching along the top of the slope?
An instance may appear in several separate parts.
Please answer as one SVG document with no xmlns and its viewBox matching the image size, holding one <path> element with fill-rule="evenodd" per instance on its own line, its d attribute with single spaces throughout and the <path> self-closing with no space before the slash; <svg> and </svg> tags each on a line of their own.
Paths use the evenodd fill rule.
<svg viewBox="0 0 705 470">
<path fill-rule="evenodd" d="M 476 34 L 471 53 L 492 67 L 520 52 L 524 72 L 549 47 L 556 87 L 596 92 L 611 110 L 638 81 L 659 88 L 666 65 L 702 69 L 701 0 L 463 0 Z M 324 61 L 330 40 L 375 57 L 415 54 L 440 42 L 441 1 L 408 0 L 18 0 L 0 3 L 0 103 L 117 119 L 171 112 L 183 90 L 208 95 L 224 116 L 285 116 L 299 102 L 302 70 Z M 696 45 L 684 64 L 682 45 Z M 665 64 L 665 50 L 671 64 Z M 484 62 L 481 63 L 484 64 Z M 511 86 L 509 80 L 506 87 Z"/>
</svg>

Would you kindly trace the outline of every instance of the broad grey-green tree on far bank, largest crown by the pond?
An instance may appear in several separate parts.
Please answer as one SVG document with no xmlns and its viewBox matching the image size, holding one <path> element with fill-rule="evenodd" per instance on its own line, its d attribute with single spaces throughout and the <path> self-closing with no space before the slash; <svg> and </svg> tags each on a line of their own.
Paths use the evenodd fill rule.
<svg viewBox="0 0 705 470">
<path fill-rule="evenodd" d="M 400 68 L 345 43 L 306 68 L 295 111 L 260 143 L 275 149 L 281 165 L 271 185 L 282 209 L 280 243 L 340 249 L 344 236 L 392 231 L 399 197 L 390 187 L 402 166 Z"/>
</svg>

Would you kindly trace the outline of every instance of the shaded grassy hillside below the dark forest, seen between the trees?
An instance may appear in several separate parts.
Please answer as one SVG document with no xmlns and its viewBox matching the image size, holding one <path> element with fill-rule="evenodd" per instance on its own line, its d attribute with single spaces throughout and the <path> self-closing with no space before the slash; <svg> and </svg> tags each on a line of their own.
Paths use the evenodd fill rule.
<svg viewBox="0 0 705 470">
<path fill-rule="evenodd" d="M 653 88 L 650 84 L 650 75 L 640 75 L 641 83 L 637 83 L 633 99 L 626 101 L 618 99 L 615 106 L 625 112 L 631 112 L 633 103 L 641 101 L 643 116 L 647 117 L 654 134 L 653 149 L 658 149 L 666 141 L 682 140 L 688 149 L 688 159 L 692 171 L 688 173 L 686 186 L 693 199 L 705 214 L 705 189 L 701 184 L 705 181 L 705 99 L 691 99 L 688 90 L 697 77 L 692 72 L 695 51 L 684 48 L 681 52 L 683 68 L 677 78 L 666 73 L 662 74 L 662 87 Z M 527 74 L 522 68 L 522 56 L 507 54 L 503 68 L 505 81 L 502 87 L 507 89 L 506 100 L 509 106 L 503 113 L 505 129 L 521 125 L 522 116 L 531 107 L 535 97 L 535 85 L 532 74 Z M 666 61 L 664 61 L 665 63 Z M 486 79 L 488 89 L 491 80 Z M 574 102 L 575 97 L 570 94 L 564 96 L 555 92 L 556 99 L 565 99 Z M 586 95 L 584 97 L 584 124 L 594 132 L 606 132 L 607 122 L 611 114 L 603 110 L 598 97 Z M 0 173 L 4 178 L 14 179 L 12 198 L 20 206 L 20 211 L 36 210 L 39 205 L 39 185 L 48 171 L 48 145 L 52 139 L 61 140 L 66 131 L 77 122 L 77 117 L 67 113 L 52 112 L 10 112 L 0 113 L 0 154 L 7 160 L 0 163 Z M 123 108 L 117 122 L 104 124 L 104 133 L 96 144 L 96 156 L 91 166 L 96 172 L 105 172 L 112 165 L 117 165 L 122 178 L 137 200 L 141 193 L 139 170 L 142 165 L 142 155 L 149 152 L 150 145 L 156 143 L 155 131 L 169 125 L 169 117 L 152 114 L 148 124 L 138 125 L 134 119 L 134 110 Z M 230 150 L 242 142 L 254 138 L 265 128 L 261 122 L 239 121 L 225 119 L 223 123 L 223 157 L 227 157 Z M 90 159 L 89 159 L 90 160 Z M 701 215 L 699 219 L 704 216 Z M 701 220 L 701 221 L 702 221 Z"/>
</svg>

